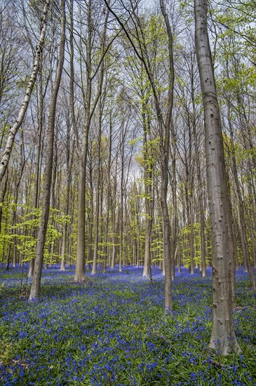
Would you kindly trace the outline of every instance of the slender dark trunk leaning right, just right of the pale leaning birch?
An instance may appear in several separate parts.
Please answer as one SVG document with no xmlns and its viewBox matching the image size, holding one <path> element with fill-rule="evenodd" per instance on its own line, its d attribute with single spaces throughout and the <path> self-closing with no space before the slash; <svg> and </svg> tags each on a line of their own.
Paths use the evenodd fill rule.
<svg viewBox="0 0 256 386">
<path fill-rule="evenodd" d="M 53 91 L 50 98 L 48 132 L 47 132 L 47 148 L 46 148 L 46 170 L 44 174 L 43 185 L 43 206 L 41 215 L 41 225 L 39 227 L 38 240 L 36 243 L 36 258 L 34 262 L 34 275 L 32 279 L 32 287 L 29 295 L 29 300 L 37 300 L 39 298 L 41 271 L 43 266 L 43 250 L 46 241 L 46 230 L 48 225 L 49 210 L 50 210 L 50 185 L 52 179 L 53 168 L 53 140 L 54 140 L 54 126 L 55 113 L 58 98 L 58 91 L 60 88 L 60 80 L 62 76 L 62 68 L 65 58 L 65 0 L 61 0 L 61 27 L 60 27 L 60 52 L 59 61 L 56 71 L 55 81 L 53 84 Z"/>
</svg>

